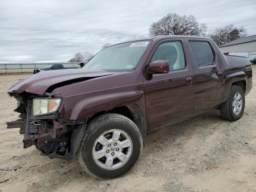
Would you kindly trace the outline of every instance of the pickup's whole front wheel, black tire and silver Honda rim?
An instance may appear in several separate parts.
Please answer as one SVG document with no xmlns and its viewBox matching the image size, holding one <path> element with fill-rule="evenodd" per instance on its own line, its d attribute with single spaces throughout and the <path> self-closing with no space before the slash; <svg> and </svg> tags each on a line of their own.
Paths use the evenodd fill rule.
<svg viewBox="0 0 256 192">
<path fill-rule="evenodd" d="M 119 114 L 104 114 L 89 122 L 78 158 L 90 175 L 114 178 L 127 173 L 141 152 L 142 135 L 136 124 Z"/>
</svg>

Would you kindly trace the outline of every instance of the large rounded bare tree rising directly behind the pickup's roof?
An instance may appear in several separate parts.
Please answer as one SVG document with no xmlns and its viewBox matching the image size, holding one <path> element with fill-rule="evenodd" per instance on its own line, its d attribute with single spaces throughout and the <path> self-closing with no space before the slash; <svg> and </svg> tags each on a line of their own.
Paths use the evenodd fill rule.
<svg viewBox="0 0 256 192">
<path fill-rule="evenodd" d="M 207 26 L 205 23 L 199 24 L 192 15 L 180 16 L 170 13 L 157 22 L 153 22 L 149 28 L 151 36 L 156 35 L 205 35 Z"/>
</svg>

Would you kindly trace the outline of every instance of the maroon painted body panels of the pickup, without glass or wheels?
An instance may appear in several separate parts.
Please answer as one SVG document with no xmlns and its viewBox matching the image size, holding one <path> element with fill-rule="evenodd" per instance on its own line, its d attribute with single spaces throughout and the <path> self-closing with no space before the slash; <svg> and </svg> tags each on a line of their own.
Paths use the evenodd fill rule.
<svg viewBox="0 0 256 192">
<path fill-rule="evenodd" d="M 226 100 L 234 82 L 243 81 L 246 94 L 252 88 L 252 72 L 246 70 L 250 62 L 225 56 L 209 38 L 158 36 L 143 40 L 152 43 L 132 72 L 80 69 L 40 72 L 12 86 L 8 93 L 11 96 L 25 92 L 43 95 L 57 83 L 86 77 L 88 79 L 52 90 L 51 94 L 60 93 L 56 97 L 62 98 L 59 112 L 64 119 L 90 118 L 104 110 L 133 104 L 139 107 L 147 130 L 153 130 L 217 108 Z M 214 63 L 198 67 L 188 40 L 209 42 Z M 186 68 L 164 73 L 168 71 L 166 61 L 150 63 L 150 60 L 156 48 L 169 41 L 182 43 Z M 158 68 L 159 63 L 164 70 Z M 150 69 L 162 74 L 148 74 L 149 64 Z"/>
</svg>

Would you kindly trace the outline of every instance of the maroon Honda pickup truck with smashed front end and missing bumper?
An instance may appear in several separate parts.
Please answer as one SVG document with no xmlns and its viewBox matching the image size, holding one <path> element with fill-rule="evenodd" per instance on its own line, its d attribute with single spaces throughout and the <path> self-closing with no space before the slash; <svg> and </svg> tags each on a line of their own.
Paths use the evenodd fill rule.
<svg viewBox="0 0 256 192">
<path fill-rule="evenodd" d="M 137 162 L 152 130 L 219 109 L 238 120 L 252 89 L 248 58 L 209 38 L 157 36 L 100 51 L 81 69 L 46 71 L 8 90 L 18 100 L 24 148 L 114 178 Z"/>
</svg>

